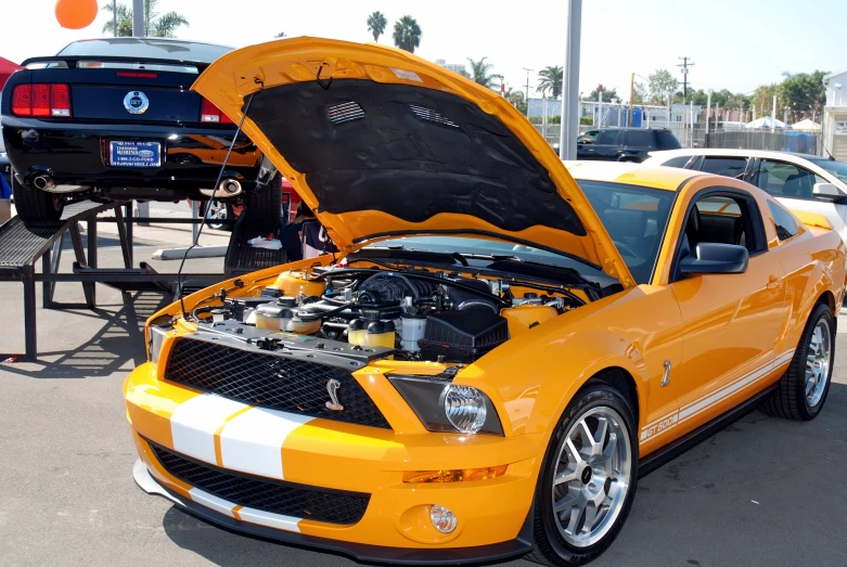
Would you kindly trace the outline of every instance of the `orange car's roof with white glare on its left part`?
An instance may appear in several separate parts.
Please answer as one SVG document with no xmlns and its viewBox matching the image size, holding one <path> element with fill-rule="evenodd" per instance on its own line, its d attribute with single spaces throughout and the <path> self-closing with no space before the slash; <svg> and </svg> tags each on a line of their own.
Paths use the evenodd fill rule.
<svg viewBox="0 0 847 567">
<path fill-rule="evenodd" d="M 692 177 L 708 175 L 678 167 L 650 167 L 620 162 L 565 162 L 565 167 L 576 180 L 606 181 L 665 191 L 677 191 Z"/>
</svg>

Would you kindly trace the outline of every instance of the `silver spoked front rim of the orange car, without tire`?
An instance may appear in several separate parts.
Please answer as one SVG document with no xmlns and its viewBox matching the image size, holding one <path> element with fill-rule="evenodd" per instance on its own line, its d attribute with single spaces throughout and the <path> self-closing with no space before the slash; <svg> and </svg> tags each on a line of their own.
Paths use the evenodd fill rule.
<svg viewBox="0 0 847 567">
<path fill-rule="evenodd" d="M 632 469 L 629 430 L 618 412 L 592 408 L 570 427 L 556 459 L 553 515 L 575 547 L 593 545 L 624 508 Z"/>
</svg>

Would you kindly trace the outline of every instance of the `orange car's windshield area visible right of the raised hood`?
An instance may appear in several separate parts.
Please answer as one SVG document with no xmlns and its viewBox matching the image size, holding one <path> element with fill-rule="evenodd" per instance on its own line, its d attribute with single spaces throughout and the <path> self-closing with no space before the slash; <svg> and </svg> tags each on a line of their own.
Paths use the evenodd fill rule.
<svg viewBox="0 0 847 567">
<path fill-rule="evenodd" d="M 650 283 L 676 193 L 602 181 L 577 180 L 615 243 L 632 278 Z"/>
</svg>

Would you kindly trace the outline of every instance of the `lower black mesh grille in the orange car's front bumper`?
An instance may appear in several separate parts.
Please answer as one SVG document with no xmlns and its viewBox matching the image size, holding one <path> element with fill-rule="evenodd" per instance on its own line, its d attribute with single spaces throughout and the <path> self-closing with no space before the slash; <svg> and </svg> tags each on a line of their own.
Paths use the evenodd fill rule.
<svg viewBox="0 0 847 567">
<path fill-rule="evenodd" d="M 318 489 L 282 480 L 231 473 L 182 456 L 147 441 L 165 471 L 209 494 L 244 507 L 329 524 L 356 524 L 368 508 L 370 494 Z"/>
</svg>

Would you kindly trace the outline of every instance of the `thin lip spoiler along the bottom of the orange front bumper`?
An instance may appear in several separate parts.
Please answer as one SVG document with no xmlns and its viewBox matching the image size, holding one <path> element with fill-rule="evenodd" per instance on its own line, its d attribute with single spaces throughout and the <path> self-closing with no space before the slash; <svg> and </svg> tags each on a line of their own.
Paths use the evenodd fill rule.
<svg viewBox="0 0 847 567">
<path fill-rule="evenodd" d="M 257 524 L 251 524 L 248 521 L 241 521 L 219 512 L 215 512 L 209 507 L 202 506 L 190 499 L 182 498 L 176 492 L 168 490 L 151 476 L 146 466 L 140 459 L 137 460 L 136 464 L 132 466 L 132 477 L 139 488 L 147 494 L 163 497 L 184 512 L 210 524 L 215 524 L 228 531 L 234 531 L 262 540 L 341 553 L 360 562 L 378 562 L 396 565 L 460 565 L 505 560 L 524 555 L 532 550 L 530 531 L 531 513 L 527 515 L 524 528 L 521 530 L 518 538 L 512 541 L 450 550 L 386 547 L 382 545 L 369 545 L 326 538 L 316 538 L 305 533 L 282 531 Z"/>
</svg>

